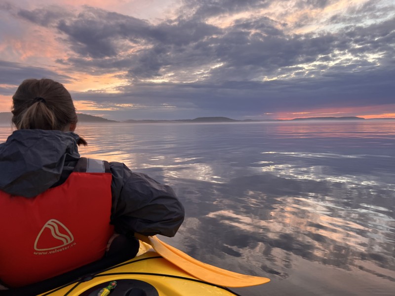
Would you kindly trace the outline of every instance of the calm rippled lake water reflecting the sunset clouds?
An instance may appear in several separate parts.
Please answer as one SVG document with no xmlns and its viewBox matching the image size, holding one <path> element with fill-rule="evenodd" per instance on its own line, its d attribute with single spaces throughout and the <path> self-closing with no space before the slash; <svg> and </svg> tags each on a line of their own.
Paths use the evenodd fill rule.
<svg viewBox="0 0 395 296">
<path fill-rule="evenodd" d="M 0 127 L 5 141 L 10 127 Z M 245 296 L 395 295 L 395 122 L 80 125 L 82 156 L 171 185 L 164 241 L 271 282 Z"/>
</svg>

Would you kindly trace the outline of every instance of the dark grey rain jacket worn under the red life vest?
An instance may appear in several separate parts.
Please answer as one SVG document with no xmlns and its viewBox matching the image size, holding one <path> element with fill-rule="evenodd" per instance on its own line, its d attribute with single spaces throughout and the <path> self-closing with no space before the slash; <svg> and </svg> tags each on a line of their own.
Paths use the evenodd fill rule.
<svg viewBox="0 0 395 296">
<path fill-rule="evenodd" d="M 0 144 L 0 190 L 32 198 L 66 181 L 79 159 L 72 132 L 17 130 Z M 118 233 L 174 236 L 184 208 L 174 191 L 149 176 L 110 162 L 111 223 Z"/>
</svg>

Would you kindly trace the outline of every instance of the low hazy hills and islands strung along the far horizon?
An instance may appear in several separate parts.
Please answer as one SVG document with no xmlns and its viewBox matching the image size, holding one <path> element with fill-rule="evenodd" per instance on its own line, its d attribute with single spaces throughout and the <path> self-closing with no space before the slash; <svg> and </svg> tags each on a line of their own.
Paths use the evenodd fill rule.
<svg viewBox="0 0 395 296">
<path fill-rule="evenodd" d="M 363 121 L 363 120 L 374 120 L 374 121 L 388 121 L 395 120 L 395 118 L 369 118 L 357 116 L 344 116 L 344 117 L 307 117 L 307 118 L 293 118 L 293 119 L 244 119 L 237 120 L 228 117 L 197 117 L 195 119 L 175 119 L 175 120 L 155 120 L 155 119 L 143 119 L 135 120 L 128 119 L 122 121 L 110 120 L 100 116 L 94 116 L 84 113 L 77 113 L 79 123 L 232 123 L 232 122 L 283 122 L 283 121 Z M 11 112 L 0 112 L 0 124 L 11 125 Z"/>
</svg>

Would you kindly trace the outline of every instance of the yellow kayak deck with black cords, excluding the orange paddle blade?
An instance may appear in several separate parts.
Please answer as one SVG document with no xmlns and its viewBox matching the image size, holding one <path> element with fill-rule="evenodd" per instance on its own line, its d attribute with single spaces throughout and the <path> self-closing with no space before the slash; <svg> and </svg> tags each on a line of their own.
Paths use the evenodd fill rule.
<svg viewBox="0 0 395 296">
<path fill-rule="evenodd" d="M 111 287 L 111 284 L 115 287 Z M 78 282 L 40 294 L 40 296 L 66 295 L 224 296 L 238 294 L 228 288 L 197 279 L 161 257 L 150 245 L 141 242 L 140 251 L 134 259 L 98 274 L 81 278 Z"/>
</svg>

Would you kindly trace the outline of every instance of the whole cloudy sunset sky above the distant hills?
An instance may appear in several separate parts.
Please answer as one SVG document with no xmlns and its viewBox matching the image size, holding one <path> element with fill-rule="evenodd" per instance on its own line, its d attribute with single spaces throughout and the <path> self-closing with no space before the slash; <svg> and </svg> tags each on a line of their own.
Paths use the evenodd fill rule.
<svg viewBox="0 0 395 296">
<path fill-rule="evenodd" d="M 0 112 L 45 77 L 116 120 L 395 117 L 394 0 L 0 0 L 0 28 Z"/>
</svg>

